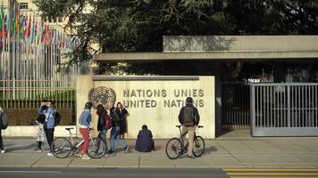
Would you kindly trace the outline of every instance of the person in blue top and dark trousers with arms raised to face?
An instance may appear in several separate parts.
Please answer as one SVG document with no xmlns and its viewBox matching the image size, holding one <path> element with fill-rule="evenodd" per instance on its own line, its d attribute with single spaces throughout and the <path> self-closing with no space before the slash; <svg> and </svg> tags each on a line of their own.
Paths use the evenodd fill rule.
<svg viewBox="0 0 318 178">
<path fill-rule="evenodd" d="M 46 106 L 46 107 L 43 107 Z M 53 101 L 46 101 L 42 103 L 40 109 L 38 109 L 38 114 L 45 115 L 44 122 L 44 131 L 46 133 L 46 141 L 50 147 L 50 151 L 47 153 L 47 156 L 52 157 L 52 143 L 54 142 L 54 127 L 55 127 L 55 118 L 54 115 L 56 113 L 56 109 L 54 109 Z"/>
</svg>

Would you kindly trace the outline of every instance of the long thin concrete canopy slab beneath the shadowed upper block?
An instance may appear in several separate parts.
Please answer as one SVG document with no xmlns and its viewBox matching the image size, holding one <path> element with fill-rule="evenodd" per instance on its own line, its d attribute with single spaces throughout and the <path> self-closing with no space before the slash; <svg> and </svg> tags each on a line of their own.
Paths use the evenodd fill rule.
<svg viewBox="0 0 318 178">
<path fill-rule="evenodd" d="M 266 61 L 283 59 L 317 59 L 318 52 L 171 52 L 171 53 L 100 53 L 94 55 L 94 61 Z"/>
</svg>

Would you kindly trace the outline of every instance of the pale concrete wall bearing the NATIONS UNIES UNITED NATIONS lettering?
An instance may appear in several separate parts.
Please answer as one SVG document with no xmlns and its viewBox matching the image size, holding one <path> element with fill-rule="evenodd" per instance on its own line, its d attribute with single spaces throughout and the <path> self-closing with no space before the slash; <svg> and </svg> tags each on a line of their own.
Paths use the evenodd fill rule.
<svg viewBox="0 0 318 178">
<path fill-rule="evenodd" d="M 102 77 L 103 78 L 103 77 Z M 144 78 L 144 79 L 142 79 Z M 77 118 L 88 101 L 88 91 L 99 86 L 110 87 L 116 93 L 116 102 L 121 101 L 130 112 L 128 117 L 128 138 L 136 138 L 141 125 L 148 125 L 155 138 L 171 138 L 178 135 L 175 125 L 179 125 L 178 115 L 184 105 L 186 95 L 178 96 L 178 91 L 191 93 L 198 102 L 201 121 L 205 125 L 199 134 L 205 138 L 215 138 L 214 123 L 214 77 L 197 79 L 151 79 L 151 77 L 104 77 L 93 82 L 92 76 L 79 76 L 77 79 Z M 130 92 L 128 92 L 130 91 Z M 136 93 L 134 94 L 133 91 Z M 138 94 L 141 91 L 141 95 Z M 143 92 L 159 91 L 156 95 L 143 95 Z M 163 92 L 164 91 L 164 92 Z M 175 94 L 175 92 L 177 94 Z M 129 102 L 138 103 L 135 106 Z M 142 106 L 143 102 L 143 106 Z M 170 104 L 170 107 L 168 106 Z M 93 125 L 96 127 L 96 110 L 93 109 Z M 108 132 L 109 133 L 109 132 Z"/>
</svg>

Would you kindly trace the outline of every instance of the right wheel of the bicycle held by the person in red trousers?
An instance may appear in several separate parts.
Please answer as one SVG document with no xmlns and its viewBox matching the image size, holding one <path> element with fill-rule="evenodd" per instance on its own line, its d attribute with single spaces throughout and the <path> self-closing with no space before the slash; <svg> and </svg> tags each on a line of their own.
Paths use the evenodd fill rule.
<svg viewBox="0 0 318 178">
<path fill-rule="evenodd" d="M 88 156 L 90 158 L 101 158 L 105 153 L 106 145 L 102 140 L 94 138 L 88 142 Z"/>
</svg>

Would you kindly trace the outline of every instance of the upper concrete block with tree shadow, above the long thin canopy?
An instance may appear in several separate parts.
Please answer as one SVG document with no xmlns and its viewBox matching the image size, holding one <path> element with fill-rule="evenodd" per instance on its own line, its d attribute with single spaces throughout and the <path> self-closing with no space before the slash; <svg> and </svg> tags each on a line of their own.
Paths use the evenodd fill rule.
<svg viewBox="0 0 318 178">
<path fill-rule="evenodd" d="M 163 52 L 317 52 L 318 36 L 163 36 Z"/>
</svg>

